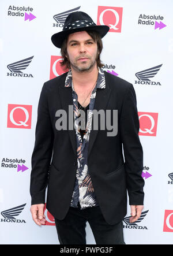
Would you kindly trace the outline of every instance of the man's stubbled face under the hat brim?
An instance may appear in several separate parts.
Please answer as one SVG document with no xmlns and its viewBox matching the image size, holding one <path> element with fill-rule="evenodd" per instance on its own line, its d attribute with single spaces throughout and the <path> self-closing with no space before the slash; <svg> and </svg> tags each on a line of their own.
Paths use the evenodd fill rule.
<svg viewBox="0 0 173 256">
<path fill-rule="evenodd" d="M 71 68 L 77 72 L 89 71 L 96 65 L 97 43 L 86 31 L 70 34 L 67 54 Z"/>
</svg>

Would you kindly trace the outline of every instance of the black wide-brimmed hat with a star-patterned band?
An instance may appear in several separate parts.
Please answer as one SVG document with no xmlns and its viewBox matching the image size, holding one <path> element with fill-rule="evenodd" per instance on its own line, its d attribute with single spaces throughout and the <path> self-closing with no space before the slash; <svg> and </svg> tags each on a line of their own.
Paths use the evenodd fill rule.
<svg viewBox="0 0 173 256">
<path fill-rule="evenodd" d="M 62 31 L 52 35 L 51 40 L 56 47 L 61 48 L 66 36 L 74 32 L 93 30 L 103 38 L 109 29 L 106 25 L 96 25 L 92 18 L 84 12 L 73 12 L 67 16 Z"/>
</svg>

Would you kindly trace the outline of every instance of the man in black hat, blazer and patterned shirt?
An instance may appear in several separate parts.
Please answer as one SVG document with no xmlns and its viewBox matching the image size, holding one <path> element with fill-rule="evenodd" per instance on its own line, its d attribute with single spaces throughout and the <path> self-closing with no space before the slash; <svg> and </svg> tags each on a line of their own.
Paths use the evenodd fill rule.
<svg viewBox="0 0 173 256">
<path fill-rule="evenodd" d="M 47 209 L 55 217 L 61 244 L 85 244 L 86 221 L 97 244 L 124 244 L 126 191 L 130 222 L 138 220 L 144 207 L 136 94 L 132 84 L 101 69 L 101 38 L 108 29 L 97 26 L 88 14 L 74 12 L 63 31 L 51 38 L 70 71 L 44 83 L 40 95 L 31 213 L 36 224 L 45 223 L 48 184 Z M 100 118 L 97 129 L 94 110 L 111 111 L 107 119 Z M 102 127 L 107 121 L 114 123 L 113 110 L 118 111 L 116 134 L 108 133 L 109 126 Z"/>
</svg>

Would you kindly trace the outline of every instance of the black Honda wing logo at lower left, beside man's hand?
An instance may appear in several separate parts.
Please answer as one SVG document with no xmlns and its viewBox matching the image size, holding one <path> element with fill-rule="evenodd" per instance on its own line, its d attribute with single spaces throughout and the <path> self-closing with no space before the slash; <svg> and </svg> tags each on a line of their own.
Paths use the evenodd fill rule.
<svg viewBox="0 0 173 256">
<path fill-rule="evenodd" d="M 18 220 L 16 217 L 24 210 L 26 203 L 24 205 L 16 206 L 1 212 L 3 218 L 1 218 L 1 222 L 16 222 L 16 223 L 26 223 L 25 220 Z"/>
</svg>

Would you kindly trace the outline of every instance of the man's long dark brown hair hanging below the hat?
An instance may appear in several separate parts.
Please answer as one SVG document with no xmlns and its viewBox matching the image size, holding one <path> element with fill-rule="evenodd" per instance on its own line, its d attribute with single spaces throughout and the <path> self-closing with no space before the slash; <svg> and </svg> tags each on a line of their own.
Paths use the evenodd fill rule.
<svg viewBox="0 0 173 256">
<path fill-rule="evenodd" d="M 96 31 L 86 31 L 86 32 L 88 33 L 88 35 L 91 36 L 91 38 L 94 40 L 94 42 L 97 43 L 96 62 L 97 62 L 97 66 L 99 66 L 99 68 L 102 68 L 102 66 L 104 66 L 104 64 L 101 63 L 100 54 L 101 54 L 101 51 L 103 49 L 103 43 L 102 43 L 102 40 L 100 38 L 100 35 Z M 68 40 L 68 36 L 63 41 L 63 44 L 62 44 L 62 47 L 61 47 L 61 56 L 63 58 L 63 61 L 60 62 L 60 63 L 61 63 L 62 68 L 65 69 L 65 70 L 70 69 L 70 61 L 66 57 L 66 55 L 67 55 L 67 40 Z"/>
</svg>

